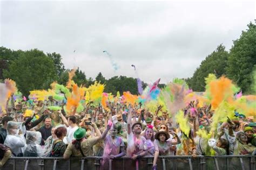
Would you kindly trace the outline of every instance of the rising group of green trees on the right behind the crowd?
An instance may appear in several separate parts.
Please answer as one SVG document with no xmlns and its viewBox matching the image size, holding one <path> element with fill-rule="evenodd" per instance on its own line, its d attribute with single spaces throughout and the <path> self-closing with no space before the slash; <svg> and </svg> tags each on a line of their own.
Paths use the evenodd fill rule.
<svg viewBox="0 0 256 170">
<path fill-rule="evenodd" d="M 206 56 L 193 76 L 186 79 L 194 91 L 205 91 L 205 77 L 209 73 L 217 77 L 225 75 L 241 88 L 245 94 L 255 94 L 256 70 L 256 25 L 248 24 L 240 38 L 233 41 L 230 51 L 220 44 Z"/>
</svg>

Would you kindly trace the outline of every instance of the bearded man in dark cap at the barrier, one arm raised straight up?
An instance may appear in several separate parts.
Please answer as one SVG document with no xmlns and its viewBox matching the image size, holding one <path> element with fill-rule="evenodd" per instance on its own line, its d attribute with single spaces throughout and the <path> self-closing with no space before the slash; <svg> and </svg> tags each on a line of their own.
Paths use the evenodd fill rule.
<svg viewBox="0 0 256 170">
<path fill-rule="evenodd" d="M 133 143 L 128 143 L 127 155 L 133 160 L 144 157 L 147 154 L 147 144 L 146 139 L 140 136 L 140 133 L 142 133 L 142 124 L 137 122 L 131 127 L 131 124 L 128 123 L 127 126 L 128 141 L 133 141 Z"/>
</svg>

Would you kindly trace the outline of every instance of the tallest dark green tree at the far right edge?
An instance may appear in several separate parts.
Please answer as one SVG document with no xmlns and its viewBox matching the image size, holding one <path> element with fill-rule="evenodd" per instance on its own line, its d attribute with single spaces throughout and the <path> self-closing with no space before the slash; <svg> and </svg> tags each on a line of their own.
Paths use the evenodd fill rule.
<svg viewBox="0 0 256 170">
<path fill-rule="evenodd" d="M 253 83 L 251 75 L 256 69 L 256 25 L 250 23 L 247 26 L 248 29 L 242 31 L 240 38 L 233 41 L 226 70 L 227 76 L 237 83 L 243 92 L 250 93 Z"/>
</svg>

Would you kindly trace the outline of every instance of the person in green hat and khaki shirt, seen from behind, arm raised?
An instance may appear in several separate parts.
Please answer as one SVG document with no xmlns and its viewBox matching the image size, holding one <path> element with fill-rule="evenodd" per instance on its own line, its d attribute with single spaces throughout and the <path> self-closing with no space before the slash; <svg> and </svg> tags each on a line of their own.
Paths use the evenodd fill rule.
<svg viewBox="0 0 256 170">
<path fill-rule="evenodd" d="M 93 155 L 92 146 L 98 143 L 99 140 L 106 137 L 108 129 L 104 131 L 104 135 L 100 133 L 95 123 L 91 124 L 95 130 L 97 137 L 92 137 L 85 139 L 86 130 L 83 128 L 78 128 L 74 133 L 75 140 L 72 141 L 66 148 L 64 153 L 64 159 L 69 159 L 72 155 L 73 157 L 90 157 Z"/>
</svg>

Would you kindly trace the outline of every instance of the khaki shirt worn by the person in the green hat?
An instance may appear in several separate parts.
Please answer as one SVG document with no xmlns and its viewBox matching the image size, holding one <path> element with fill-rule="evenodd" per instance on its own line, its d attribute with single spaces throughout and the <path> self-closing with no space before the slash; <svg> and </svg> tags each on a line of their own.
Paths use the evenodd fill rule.
<svg viewBox="0 0 256 170">
<path fill-rule="evenodd" d="M 95 138 L 89 138 L 89 139 L 86 139 L 85 141 L 82 141 L 81 148 L 85 157 L 91 157 L 93 155 L 92 146 L 95 145 L 98 140 L 99 140 L 99 137 L 95 137 Z M 80 150 L 77 150 L 75 145 L 73 145 L 72 143 L 68 145 L 64 154 L 69 156 L 72 155 L 72 157 L 83 157 Z"/>
</svg>

